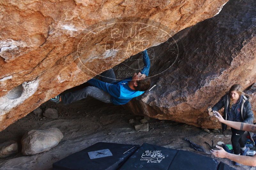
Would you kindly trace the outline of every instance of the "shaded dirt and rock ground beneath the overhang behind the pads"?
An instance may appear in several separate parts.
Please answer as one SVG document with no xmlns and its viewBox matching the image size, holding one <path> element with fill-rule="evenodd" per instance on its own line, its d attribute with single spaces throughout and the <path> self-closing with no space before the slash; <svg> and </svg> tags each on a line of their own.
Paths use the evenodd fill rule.
<svg viewBox="0 0 256 170">
<path fill-rule="evenodd" d="M 64 135 L 59 144 L 48 152 L 39 153 L 32 156 L 25 156 L 20 151 L 5 159 L 0 159 L 0 169 L 16 170 L 29 169 L 41 170 L 52 169 L 52 164 L 66 156 L 78 152 L 97 142 L 112 142 L 123 144 L 139 144 L 144 142 L 160 145 L 172 149 L 196 152 L 214 158 L 210 154 L 209 144 L 214 141 L 214 145 L 221 141 L 231 144 L 231 132 L 227 131 L 224 136 L 221 133 L 207 133 L 201 128 L 176 123 L 168 120 L 149 120 L 149 131 L 136 132 L 129 119 L 135 119 L 136 124 L 143 117 L 129 113 L 122 106 L 101 103 L 93 98 L 87 98 L 69 105 L 61 103 L 46 102 L 40 106 L 41 109 L 54 108 L 58 110 L 58 119 L 36 117 L 33 113 L 19 119 L 4 131 L 0 132 L 0 142 L 15 140 L 19 143 L 24 133 L 32 129 L 43 129 L 49 127 L 58 128 Z M 198 145 L 202 145 L 207 153 L 197 152 L 190 148 L 188 138 Z M 234 166 L 228 159 L 217 158 L 220 162 L 229 164 L 239 169 L 255 170 L 251 166 Z"/>
</svg>

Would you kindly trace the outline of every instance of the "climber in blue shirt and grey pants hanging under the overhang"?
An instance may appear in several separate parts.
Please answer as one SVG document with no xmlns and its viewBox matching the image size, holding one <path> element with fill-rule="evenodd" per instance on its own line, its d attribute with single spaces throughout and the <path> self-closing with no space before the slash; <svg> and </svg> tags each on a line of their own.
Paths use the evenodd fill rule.
<svg viewBox="0 0 256 170">
<path fill-rule="evenodd" d="M 132 98 L 142 95 L 150 88 L 150 79 L 148 78 L 150 69 L 150 60 L 147 50 L 142 52 L 144 68 L 138 74 L 132 77 L 116 81 L 113 69 L 101 73 L 101 80 L 90 79 L 87 81 L 91 86 L 85 87 L 75 92 L 68 92 L 51 98 L 50 101 L 69 104 L 77 100 L 91 96 L 104 103 L 113 103 L 121 105 L 128 103 Z"/>
</svg>

